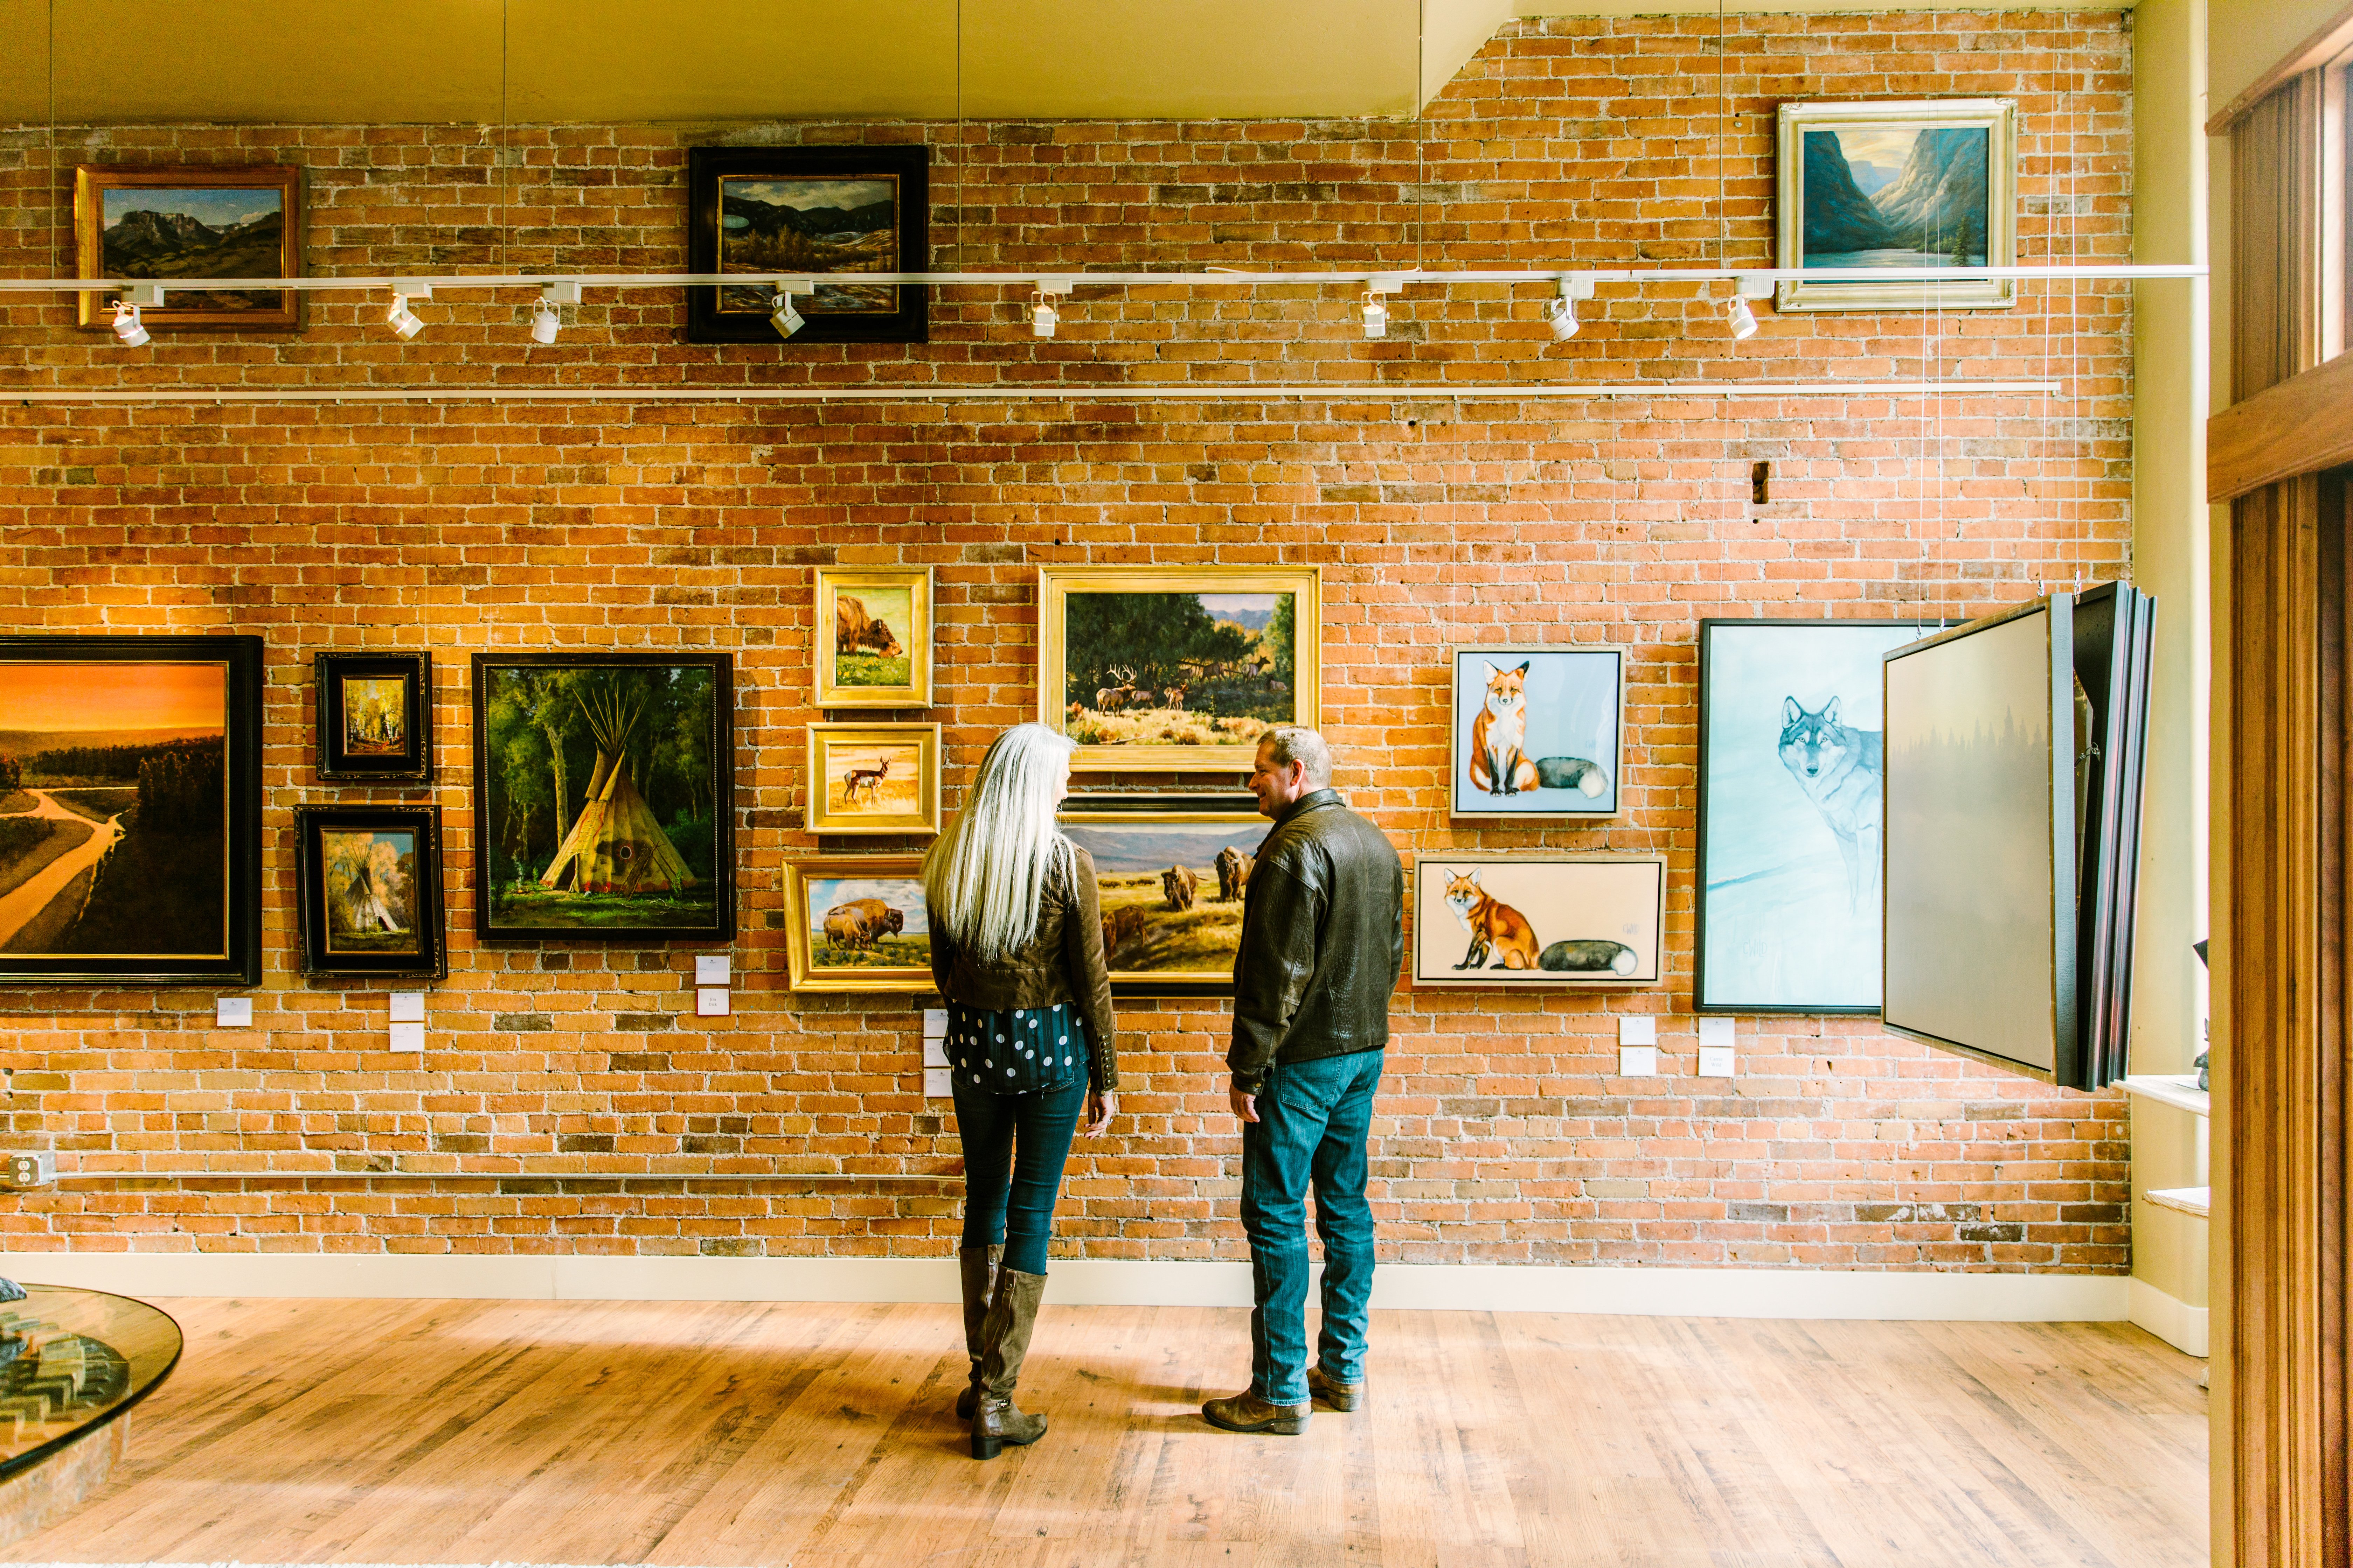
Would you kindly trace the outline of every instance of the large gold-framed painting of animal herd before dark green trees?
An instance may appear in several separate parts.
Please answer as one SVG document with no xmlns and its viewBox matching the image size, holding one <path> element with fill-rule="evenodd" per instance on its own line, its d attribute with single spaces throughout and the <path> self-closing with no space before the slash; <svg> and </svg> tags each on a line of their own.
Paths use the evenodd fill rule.
<svg viewBox="0 0 2353 1568">
<path fill-rule="evenodd" d="M 1073 769 L 1247 773 L 1320 715 L 1315 567 L 1042 567 L 1038 717 Z"/>
</svg>

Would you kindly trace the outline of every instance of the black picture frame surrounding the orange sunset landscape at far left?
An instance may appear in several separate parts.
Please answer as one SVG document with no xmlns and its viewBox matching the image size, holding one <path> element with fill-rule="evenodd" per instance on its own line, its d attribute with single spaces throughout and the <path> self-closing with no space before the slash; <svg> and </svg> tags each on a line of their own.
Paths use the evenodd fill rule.
<svg viewBox="0 0 2353 1568">
<path fill-rule="evenodd" d="M 224 914 L 226 954 L 172 969 L 7 969 L 0 954 L 0 990 L 40 985 L 64 990 L 120 990 L 125 985 L 261 985 L 261 726 L 268 646 L 254 632 L 0 632 L 0 658 L 14 649 L 66 644 L 61 651 L 122 649 L 134 661 L 141 649 L 158 654 L 219 656 L 228 665 L 228 877 Z M 139 644 L 139 646 L 132 646 Z M 226 646 L 224 646 L 226 644 Z M 242 724 L 238 724 L 242 719 Z M 54 957 L 54 954 L 40 954 Z M 144 959 L 129 959 L 139 964 Z"/>
</svg>

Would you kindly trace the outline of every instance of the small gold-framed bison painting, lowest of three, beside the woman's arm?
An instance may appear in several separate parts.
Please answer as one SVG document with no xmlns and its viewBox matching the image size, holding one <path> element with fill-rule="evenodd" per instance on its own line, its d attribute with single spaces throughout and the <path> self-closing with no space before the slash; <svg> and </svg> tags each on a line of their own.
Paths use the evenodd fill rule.
<svg viewBox="0 0 2353 1568">
<path fill-rule="evenodd" d="M 795 992 L 929 992 L 922 856 L 786 860 L 784 964 Z"/>
</svg>

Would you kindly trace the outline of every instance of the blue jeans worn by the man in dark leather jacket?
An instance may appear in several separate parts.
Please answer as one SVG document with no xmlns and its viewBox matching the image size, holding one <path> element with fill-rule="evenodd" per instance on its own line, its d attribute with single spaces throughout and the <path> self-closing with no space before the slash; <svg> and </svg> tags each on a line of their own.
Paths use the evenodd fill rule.
<svg viewBox="0 0 2353 1568">
<path fill-rule="evenodd" d="M 1249 1392 L 1278 1406 L 1308 1401 L 1308 1232 L 1325 1244 L 1325 1378 L 1365 1378 L 1365 1312 L 1372 1305 L 1372 1204 L 1365 1201 L 1365 1138 L 1381 1086 L 1381 1051 L 1275 1065 L 1259 1088 L 1259 1119 L 1242 1124 L 1242 1229 L 1249 1234 Z"/>
</svg>

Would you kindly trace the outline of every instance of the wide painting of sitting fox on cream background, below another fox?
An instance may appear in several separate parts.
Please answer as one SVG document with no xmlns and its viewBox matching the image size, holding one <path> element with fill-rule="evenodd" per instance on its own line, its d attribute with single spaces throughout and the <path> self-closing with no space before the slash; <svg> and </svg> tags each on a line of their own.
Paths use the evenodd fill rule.
<svg viewBox="0 0 2353 1568">
<path fill-rule="evenodd" d="M 1414 985 L 1657 985 L 1666 856 L 1421 856 Z"/>
</svg>

